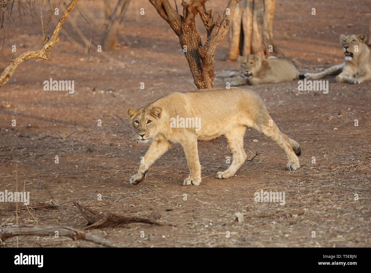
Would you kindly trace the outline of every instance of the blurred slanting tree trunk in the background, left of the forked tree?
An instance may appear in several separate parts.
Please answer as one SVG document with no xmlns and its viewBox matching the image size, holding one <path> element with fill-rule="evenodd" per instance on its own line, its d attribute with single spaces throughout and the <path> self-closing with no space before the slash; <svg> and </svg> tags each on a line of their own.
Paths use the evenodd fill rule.
<svg viewBox="0 0 371 273">
<path fill-rule="evenodd" d="M 111 2 L 111 1 L 110 1 Z M 104 38 L 102 40 L 102 45 L 104 48 L 111 48 L 114 49 L 118 46 L 118 32 L 120 30 L 120 26 L 122 20 L 124 19 L 125 13 L 128 9 L 130 0 L 119 0 L 112 16 L 107 12 L 108 7 L 105 7 L 105 16 L 110 17 L 109 23 L 106 28 L 106 32 L 104 34 Z M 107 3 L 105 2 L 105 5 Z M 111 3 L 112 6 L 112 3 Z M 107 19 L 107 18 L 106 18 Z"/>
</svg>

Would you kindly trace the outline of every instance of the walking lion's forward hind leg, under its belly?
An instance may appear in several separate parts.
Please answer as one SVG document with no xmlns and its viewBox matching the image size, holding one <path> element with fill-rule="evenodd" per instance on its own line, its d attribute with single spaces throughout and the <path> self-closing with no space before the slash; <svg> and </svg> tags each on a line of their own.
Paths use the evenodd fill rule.
<svg viewBox="0 0 371 273">
<path fill-rule="evenodd" d="M 233 153 L 232 164 L 224 172 L 218 172 L 215 178 L 230 178 L 245 162 L 247 155 L 243 149 L 243 136 L 246 131 L 246 126 L 236 126 L 225 134 L 228 147 Z"/>
</svg>

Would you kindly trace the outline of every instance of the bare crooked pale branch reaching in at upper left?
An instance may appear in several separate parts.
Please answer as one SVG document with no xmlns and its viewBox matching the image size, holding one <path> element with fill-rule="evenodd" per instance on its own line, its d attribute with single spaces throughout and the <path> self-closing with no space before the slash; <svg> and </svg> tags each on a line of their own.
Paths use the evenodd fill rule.
<svg viewBox="0 0 371 273">
<path fill-rule="evenodd" d="M 49 51 L 53 48 L 53 46 L 59 41 L 59 32 L 62 29 L 63 23 L 66 21 L 68 15 L 72 11 L 72 9 L 76 6 L 79 0 L 72 0 L 69 5 L 67 6 L 66 10 L 63 12 L 62 16 L 60 16 L 57 25 L 55 26 L 54 32 L 52 36 L 43 44 L 42 48 L 39 50 L 33 50 L 23 52 L 19 54 L 16 58 L 14 58 L 10 64 L 4 69 L 4 71 L 0 74 L 0 87 L 6 84 L 7 81 L 12 77 L 14 71 L 16 70 L 17 66 L 21 64 L 24 60 L 32 59 L 32 58 L 39 58 L 45 59 L 50 61 Z"/>
</svg>

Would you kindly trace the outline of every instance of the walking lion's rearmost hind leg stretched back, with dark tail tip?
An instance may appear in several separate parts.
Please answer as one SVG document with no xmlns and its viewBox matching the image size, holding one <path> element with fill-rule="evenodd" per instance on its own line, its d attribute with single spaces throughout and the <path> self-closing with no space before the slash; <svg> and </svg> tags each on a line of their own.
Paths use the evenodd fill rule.
<svg viewBox="0 0 371 273">
<path fill-rule="evenodd" d="M 259 128 L 256 129 L 261 131 L 267 137 L 270 137 L 281 147 L 283 152 L 285 152 L 288 159 L 286 166 L 288 170 L 297 170 L 300 168 L 300 163 L 297 156 L 301 154 L 300 145 L 295 140 L 289 139 L 288 136 L 281 133 L 274 121 L 273 124 L 268 124 L 268 121 L 266 124 L 260 124 Z"/>
</svg>

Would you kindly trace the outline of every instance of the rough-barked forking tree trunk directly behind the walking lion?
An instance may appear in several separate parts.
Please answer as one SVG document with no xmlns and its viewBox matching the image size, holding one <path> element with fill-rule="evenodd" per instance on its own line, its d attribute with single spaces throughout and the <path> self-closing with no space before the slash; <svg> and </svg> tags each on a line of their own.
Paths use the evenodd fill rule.
<svg viewBox="0 0 371 273">
<path fill-rule="evenodd" d="M 223 15 L 213 22 L 213 10 L 206 10 L 207 0 L 182 0 L 183 15 L 170 5 L 168 0 L 150 0 L 158 14 L 170 25 L 179 37 L 181 48 L 198 89 L 214 87 L 214 55 L 216 47 L 226 36 L 236 4 L 241 0 L 230 0 Z M 207 40 L 202 45 L 196 30 L 195 16 L 200 17 L 207 31 Z M 185 48 L 186 46 L 186 48 Z M 186 50 L 185 50 L 186 49 Z"/>
</svg>

